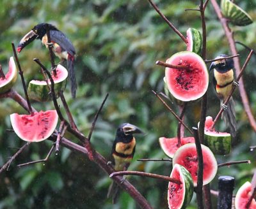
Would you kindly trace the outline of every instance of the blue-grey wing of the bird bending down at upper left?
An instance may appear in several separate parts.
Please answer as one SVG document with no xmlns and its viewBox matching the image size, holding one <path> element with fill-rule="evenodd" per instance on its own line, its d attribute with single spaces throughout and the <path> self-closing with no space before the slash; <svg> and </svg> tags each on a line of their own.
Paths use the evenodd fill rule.
<svg viewBox="0 0 256 209">
<path fill-rule="evenodd" d="M 76 54 L 76 50 L 74 46 L 72 45 L 71 41 L 63 34 L 61 31 L 50 31 L 51 41 L 54 41 L 60 45 L 60 47 L 67 51 L 68 54 L 74 56 Z"/>
</svg>

